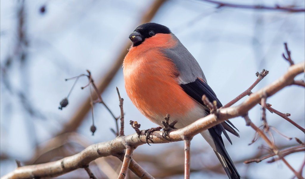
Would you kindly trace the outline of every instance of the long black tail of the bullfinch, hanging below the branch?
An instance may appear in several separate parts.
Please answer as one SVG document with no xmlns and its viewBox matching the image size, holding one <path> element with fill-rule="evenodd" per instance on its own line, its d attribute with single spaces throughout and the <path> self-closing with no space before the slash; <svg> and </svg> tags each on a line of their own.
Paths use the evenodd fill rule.
<svg viewBox="0 0 305 179">
<path fill-rule="evenodd" d="M 229 179 L 240 179 L 240 176 L 234 166 L 234 163 L 232 162 L 228 152 L 224 148 L 224 142 L 222 141 L 221 136 L 216 133 L 213 127 L 208 130 L 211 136 L 213 137 L 216 145 L 217 151 L 214 152 L 217 155 L 222 167 L 224 167 L 224 171 L 227 173 Z"/>
</svg>

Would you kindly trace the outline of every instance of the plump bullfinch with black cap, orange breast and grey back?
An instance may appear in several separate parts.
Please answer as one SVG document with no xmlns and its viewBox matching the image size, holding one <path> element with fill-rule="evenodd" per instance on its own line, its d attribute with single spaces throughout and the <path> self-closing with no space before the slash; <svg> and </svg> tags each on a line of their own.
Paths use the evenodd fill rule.
<svg viewBox="0 0 305 179">
<path fill-rule="evenodd" d="M 183 128 L 210 114 L 202 97 L 222 106 L 207 84 L 201 67 L 179 39 L 164 25 L 145 23 L 130 35 L 132 42 L 123 61 L 123 75 L 128 97 L 150 121 L 162 126 L 164 116 Z M 210 62 L 206 62 L 208 65 Z M 225 121 L 200 134 L 213 148 L 230 179 L 238 179 L 221 134 L 232 144 L 226 130 L 239 137 L 236 127 Z"/>
</svg>

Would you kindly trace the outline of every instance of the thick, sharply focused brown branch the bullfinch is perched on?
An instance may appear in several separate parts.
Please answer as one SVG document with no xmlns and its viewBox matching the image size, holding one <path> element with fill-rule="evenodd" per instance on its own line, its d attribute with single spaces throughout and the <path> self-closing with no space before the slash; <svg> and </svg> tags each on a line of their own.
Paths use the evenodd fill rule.
<svg viewBox="0 0 305 179">
<path fill-rule="evenodd" d="M 242 104 L 229 107 L 229 108 L 221 108 L 218 109 L 217 116 L 214 114 L 207 115 L 204 118 L 198 119 L 192 124 L 178 130 L 172 130 L 169 133 L 169 138 L 171 141 L 162 137 L 162 132 L 156 131 L 152 134 L 155 136 L 152 139 L 153 143 L 169 143 L 173 141 L 182 141 L 185 137 L 193 137 L 194 135 L 200 133 L 203 130 L 206 130 L 210 127 L 213 127 L 225 120 L 237 117 L 237 116 L 245 116 L 248 111 L 253 108 L 266 94 L 266 97 L 270 97 L 273 94 L 277 93 L 279 90 L 283 89 L 285 86 L 289 86 L 293 81 L 296 75 L 303 73 L 305 70 L 305 61 L 292 65 L 289 67 L 288 71 L 275 82 L 270 85 L 264 87 L 263 89 L 257 91 L 250 95 L 248 99 L 246 99 Z M 251 121 L 248 123 L 256 129 L 256 131 L 265 139 L 267 144 L 274 149 L 274 153 L 277 153 L 277 149 L 272 144 L 272 142 L 264 136 L 264 133 L 258 129 Z M 255 128 L 256 127 L 256 128 Z M 258 129 L 258 130 L 257 130 Z M 143 132 L 142 132 L 143 134 Z M 139 145 L 146 143 L 146 136 L 140 135 L 137 133 L 128 136 L 119 136 L 112 141 L 103 142 L 98 144 L 93 144 L 82 152 L 77 153 L 75 155 L 65 157 L 58 161 L 31 165 L 31 166 L 21 166 L 16 168 L 13 172 L 3 176 L 3 179 L 17 177 L 17 178 L 33 178 L 33 177 L 55 177 L 77 168 L 81 168 L 87 166 L 91 161 L 104 156 L 115 155 L 116 153 L 122 152 L 126 149 L 126 146 L 130 146 L 133 148 L 138 147 Z M 289 167 L 287 161 L 282 158 L 283 162 Z M 290 166 L 291 167 L 291 166 Z M 289 168 L 290 168 L 289 167 Z M 47 170 L 46 170 L 47 169 Z M 290 168 L 292 171 L 293 169 Z M 295 170 L 294 170 L 295 172 Z"/>
</svg>

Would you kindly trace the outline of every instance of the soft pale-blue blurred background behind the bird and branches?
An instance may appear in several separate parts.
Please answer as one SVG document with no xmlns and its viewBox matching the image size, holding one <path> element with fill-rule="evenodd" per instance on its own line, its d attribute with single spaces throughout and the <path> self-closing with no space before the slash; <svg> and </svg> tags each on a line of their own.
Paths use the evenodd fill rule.
<svg viewBox="0 0 305 179">
<path fill-rule="evenodd" d="M 223 2 L 299 9 L 305 6 L 303 0 Z M 63 130 L 89 95 L 88 88 L 81 90 L 88 82 L 83 77 L 72 91 L 69 105 L 59 110 L 59 102 L 74 83 L 65 79 L 86 73 L 88 69 L 99 83 L 120 53 L 127 51 L 128 35 L 154 3 L 153 0 L 0 0 L 1 176 L 16 168 L 15 159 L 22 165 L 45 163 L 115 137 L 110 131 L 110 128 L 115 129 L 114 120 L 102 104 L 95 104 L 97 131 L 94 136 L 90 132 L 90 112 L 81 119 L 76 130 Z M 288 43 L 295 63 L 304 60 L 304 12 L 217 9 L 217 6 L 200 0 L 167 0 L 161 3 L 151 22 L 169 27 L 181 40 L 199 62 L 222 104 L 246 90 L 256 80 L 255 73 L 263 68 L 270 73 L 253 92 L 280 77 L 289 67 L 281 56 L 284 42 Z M 304 75 L 298 79 L 304 79 Z M 124 98 L 125 135 L 135 132 L 129 126 L 129 120 L 138 121 L 142 130 L 155 127 L 127 97 L 122 68 L 102 93 L 114 114 L 120 114 L 116 86 Z M 290 118 L 304 127 L 304 99 L 304 88 L 289 86 L 267 102 L 278 111 L 291 113 Z M 259 105 L 249 111 L 249 116 L 255 124 L 261 125 Z M 240 138 L 229 134 L 233 145 L 228 141 L 225 144 L 242 178 L 293 176 L 281 161 L 243 164 L 247 159 L 268 154 L 268 150 L 259 149 L 264 144 L 262 140 L 248 145 L 254 131 L 245 126 L 242 118 L 231 121 L 239 129 Z M 304 133 L 278 115 L 267 111 L 267 121 L 283 134 L 304 142 Z M 61 135 L 56 137 L 59 133 Z M 287 141 L 277 133 L 274 138 L 281 149 L 297 145 L 296 141 Z M 216 155 L 201 136 L 192 140 L 191 152 L 191 178 L 227 178 Z M 133 157 L 156 178 L 183 178 L 183 142 L 145 144 L 135 150 Z M 293 168 L 300 170 L 304 157 L 304 153 L 299 152 L 285 158 Z M 107 178 L 119 172 L 120 164 L 118 159 L 106 157 L 90 163 L 90 168 L 96 177 Z M 78 169 L 58 178 L 88 178 L 88 174 Z"/>
</svg>

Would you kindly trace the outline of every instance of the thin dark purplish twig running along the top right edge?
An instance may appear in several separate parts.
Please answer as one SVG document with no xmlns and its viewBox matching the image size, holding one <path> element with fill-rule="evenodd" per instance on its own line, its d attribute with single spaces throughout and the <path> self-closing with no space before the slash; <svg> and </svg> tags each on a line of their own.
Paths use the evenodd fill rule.
<svg viewBox="0 0 305 179">
<path fill-rule="evenodd" d="M 264 5 L 241 5 L 241 4 L 232 4 L 232 3 L 226 3 L 221 1 L 213 1 L 213 0 L 203 0 L 205 2 L 210 2 L 213 4 L 217 4 L 217 8 L 221 7 L 232 7 L 232 8 L 242 8 L 242 9 L 259 9 L 259 10 L 280 10 L 280 11 L 287 11 L 287 12 L 305 12 L 305 9 L 301 8 L 293 8 L 292 6 L 280 6 L 280 5 L 274 5 L 274 6 L 264 6 Z"/>
</svg>

